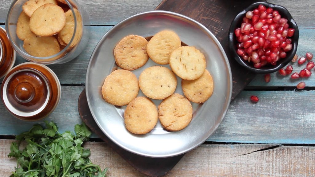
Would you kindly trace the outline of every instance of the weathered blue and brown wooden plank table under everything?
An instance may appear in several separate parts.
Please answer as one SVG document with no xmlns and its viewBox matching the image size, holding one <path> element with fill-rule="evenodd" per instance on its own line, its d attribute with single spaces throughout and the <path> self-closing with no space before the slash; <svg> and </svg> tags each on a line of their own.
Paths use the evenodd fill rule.
<svg viewBox="0 0 315 177">
<path fill-rule="evenodd" d="M 85 86 L 90 55 L 100 38 L 119 21 L 154 10 L 160 2 L 82 1 L 91 21 L 86 49 L 66 64 L 49 66 L 60 79 L 62 95 L 59 106 L 46 119 L 56 122 L 61 132 L 81 123 L 77 110 L 78 96 Z M 315 2 L 268 2 L 283 5 L 296 20 L 300 28 L 297 54 L 315 53 Z M 0 0 L 2 27 L 10 3 L 9 0 Z M 23 62 L 26 60 L 17 57 L 16 65 Z M 294 72 L 305 67 L 297 63 L 292 65 Z M 273 73 L 270 83 L 265 83 L 263 75 L 257 75 L 231 103 L 217 131 L 203 145 L 188 152 L 167 176 L 315 176 L 315 77 L 303 80 L 306 88 L 297 91 L 295 86 L 301 80 L 292 81 Z M 250 95 L 257 95 L 260 101 L 252 104 Z M 9 176 L 16 166 L 15 160 L 7 157 L 10 143 L 14 141 L 14 135 L 28 130 L 34 122 L 20 121 L 11 116 L 2 102 L 0 122 L 0 176 Z M 96 135 L 85 146 L 91 149 L 92 162 L 102 168 L 109 167 L 108 176 L 143 176 Z"/>
</svg>

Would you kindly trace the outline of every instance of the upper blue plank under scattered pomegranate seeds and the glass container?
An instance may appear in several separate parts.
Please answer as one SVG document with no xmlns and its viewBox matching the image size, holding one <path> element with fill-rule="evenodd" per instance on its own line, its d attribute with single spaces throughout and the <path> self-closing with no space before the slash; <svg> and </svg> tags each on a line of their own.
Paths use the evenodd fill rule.
<svg viewBox="0 0 315 177">
<path fill-rule="evenodd" d="M 58 76 L 60 83 L 65 84 L 80 84 L 85 83 L 85 74 L 88 67 L 90 56 L 100 41 L 101 37 L 111 28 L 111 26 L 91 26 L 90 40 L 84 49 L 84 51 L 74 60 L 61 64 L 61 65 L 48 65 Z M 311 51 L 315 54 L 315 29 L 300 29 L 300 39 L 297 54 L 299 56 L 305 55 L 307 51 Z M 315 57 L 313 59 L 315 61 Z M 20 64 L 26 62 L 25 59 L 20 56 L 17 57 L 16 63 Z M 300 72 L 306 64 L 299 66 L 296 63 L 290 63 L 294 67 L 294 72 Z M 241 67 L 241 66 L 240 66 Z M 312 70 L 314 72 L 314 69 Z M 271 74 L 271 81 L 265 83 L 264 75 L 259 74 L 255 79 L 249 83 L 249 86 L 253 87 L 277 87 L 277 86 L 296 86 L 301 80 L 306 82 L 306 86 L 315 86 L 315 74 L 308 79 L 292 80 L 289 76 L 283 77 L 277 72 Z M 1 81 L 0 81 L 1 82 Z"/>
</svg>

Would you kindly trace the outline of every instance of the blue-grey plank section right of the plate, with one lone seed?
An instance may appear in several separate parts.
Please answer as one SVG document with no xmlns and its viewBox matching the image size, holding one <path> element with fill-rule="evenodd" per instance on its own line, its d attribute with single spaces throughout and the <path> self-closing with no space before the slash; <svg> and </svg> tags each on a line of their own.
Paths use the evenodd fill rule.
<svg viewBox="0 0 315 177">
<path fill-rule="evenodd" d="M 315 91 L 243 91 L 208 141 L 314 144 L 314 105 Z"/>
</svg>

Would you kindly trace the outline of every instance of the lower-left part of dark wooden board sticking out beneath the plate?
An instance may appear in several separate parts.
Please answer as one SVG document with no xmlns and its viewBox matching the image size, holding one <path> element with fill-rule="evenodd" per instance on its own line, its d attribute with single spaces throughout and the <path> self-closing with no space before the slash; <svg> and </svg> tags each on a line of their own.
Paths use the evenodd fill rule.
<svg viewBox="0 0 315 177">
<path fill-rule="evenodd" d="M 92 114 L 90 112 L 88 102 L 86 99 L 85 88 L 81 92 L 78 101 L 78 110 L 83 122 L 96 133 L 104 142 L 108 144 L 114 151 L 116 151 L 121 157 L 123 157 L 131 166 L 140 171 L 143 174 L 149 176 L 162 176 L 169 172 L 178 161 L 184 156 L 184 154 L 167 157 L 167 158 L 151 158 L 136 155 L 129 151 L 124 150 L 112 140 L 110 140 L 95 123 Z"/>
</svg>

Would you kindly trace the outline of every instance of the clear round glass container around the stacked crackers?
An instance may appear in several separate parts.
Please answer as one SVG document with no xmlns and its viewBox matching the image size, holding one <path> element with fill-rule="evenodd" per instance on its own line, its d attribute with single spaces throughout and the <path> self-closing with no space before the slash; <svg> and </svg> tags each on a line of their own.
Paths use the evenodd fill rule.
<svg viewBox="0 0 315 177">
<path fill-rule="evenodd" d="M 58 54 L 54 54 L 48 57 L 36 57 L 28 54 L 23 48 L 23 41 L 20 40 L 16 34 L 16 24 L 19 18 L 20 13 L 22 12 L 22 5 L 27 2 L 27 0 L 14 0 L 9 8 L 7 19 L 6 19 L 6 31 L 11 45 L 20 54 L 23 58 L 28 61 L 32 61 L 40 64 L 61 64 L 66 63 L 74 58 L 76 58 L 86 47 L 89 41 L 90 33 L 90 22 L 89 16 L 86 11 L 83 9 L 83 6 L 79 1 L 76 0 L 63 0 L 71 9 L 72 14 L 74 14 L 74 9 L 77 9 L 82 18 L 82 24 L 77 23 L 75 15 L 74 17 L 74 32 L 72 38 L 68 45 L 63 49 L 60 48 Z M 58 1 L 58 3 L 60 3 Z M 78 25 L 82 25 L 82 34 L 77 32 Z M 78 33 L 78 34 L 77 34 Z M 81 35 L 77 37 L 76 35 Z"/>
</svg>

